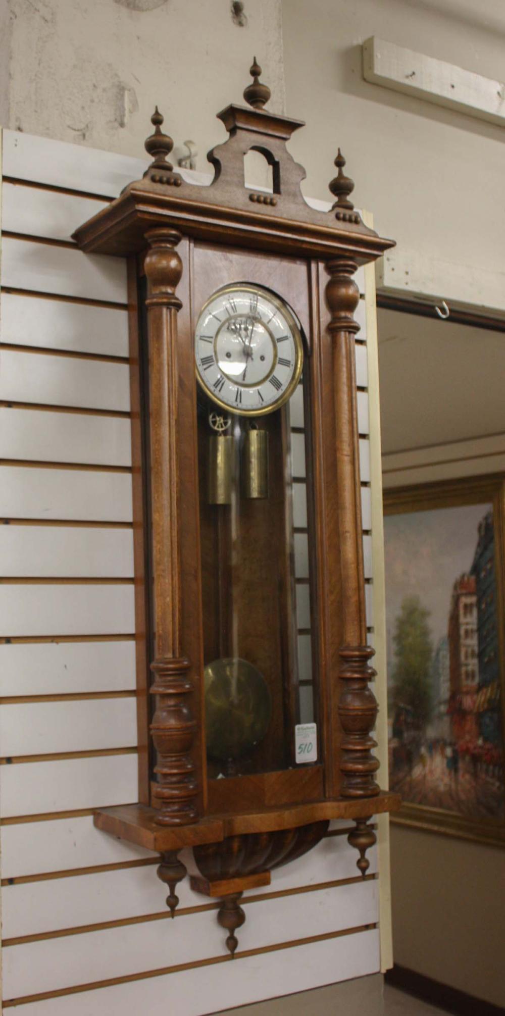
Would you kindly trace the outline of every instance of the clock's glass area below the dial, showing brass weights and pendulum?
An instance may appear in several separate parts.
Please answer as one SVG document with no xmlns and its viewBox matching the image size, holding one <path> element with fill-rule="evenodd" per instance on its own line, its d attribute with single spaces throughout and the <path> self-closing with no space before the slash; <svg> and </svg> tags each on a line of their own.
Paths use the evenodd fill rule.
<svg viewBox="0 0 505 1016">
<path fill-rule="evenodd" d="M 198 385 L 210 778 L 295 767 L 295 725 L 314 719 L 307 389 L 306 364 L 283 405 L 247 417 Z"/>
</svg>

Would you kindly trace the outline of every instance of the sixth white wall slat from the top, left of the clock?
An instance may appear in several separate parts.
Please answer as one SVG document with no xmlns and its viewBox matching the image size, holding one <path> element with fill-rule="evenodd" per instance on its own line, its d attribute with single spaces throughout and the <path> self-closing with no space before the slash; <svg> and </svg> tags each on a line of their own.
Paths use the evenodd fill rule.
<svg viewBox="0 0 505 1016">
<path fill-rule="evenodd" d="M 130 465 L 130 433 L 117 417 L 0 407 L 1 458 Z"/>
</svg>

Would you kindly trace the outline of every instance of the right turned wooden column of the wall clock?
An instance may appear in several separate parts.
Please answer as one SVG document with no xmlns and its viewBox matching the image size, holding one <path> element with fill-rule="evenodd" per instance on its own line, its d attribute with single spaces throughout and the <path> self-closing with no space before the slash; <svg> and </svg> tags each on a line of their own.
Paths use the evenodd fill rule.
<svg viewBox="0 0 505 1016">
<path fill-rule="evenodd" d="M 355 350 L 355 334 L 360 326 L 354 318 L 360 291 L 353 278 L 357 267 L 357 263 L 345 256 L 326 264 L 336 423 L 336 508 L 342 600 L 342 647 L 338 673 L 342 686 L 338 715 L 343 732 L 340 793 L 344 798 L 369 798 L 379 793 L 374 778 L 379 763 L 372 754 L 376 742 L 370 733 L 375 724 L 377 702 L 368 686 L 375 671 L 369 665 L 374 650 L 367 646 L 365 613 Z"/>
</svg>

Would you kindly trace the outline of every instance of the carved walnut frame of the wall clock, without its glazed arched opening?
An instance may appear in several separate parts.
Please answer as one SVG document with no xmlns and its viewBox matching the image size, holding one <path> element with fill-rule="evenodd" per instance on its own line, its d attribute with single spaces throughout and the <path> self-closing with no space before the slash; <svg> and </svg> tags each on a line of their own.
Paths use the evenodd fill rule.
<svg viewBox="0 0 505 1016">
<path fill-rule="evenodd" d="M 396 796 L 380 792 L 375 781 L 371 736 L 377 704 L 369 687 L 374 672 L 365 616 L 354 339 L 359 291 L 353 280 L 359 265 L 375 260 L 392 242 L 378 237 L 354 210 L 349 197 L 354 185 L 343 175 L 340 152 L 330 183 L 336 198 L 331 210 L 305 202 L 304 170 L 286 148 L 303 125 L 263 110 L 269 90 L 258 81 L 256 65 L 251 73 L 253 84 L 244 98 L 253 108 L 232 105 L 218 114 L 229 138 L 209 153 L 215 170 L 209 187 L 187 183 L 173 172 L 166 158 L 173 142 L 162 133 L 156 111 L 155 130 L 146 141 L 154 157 L 144 178 L 74 234 L 84 251 L 130 259 L 132 393 L 138 416 L 136 276 L 143 268 L 147 275 L 150 458 L 142 460 L 138 426 L 133 429 L 137 492 L 142 469 L 148 468 L 150 481 L 150 519 L 140 494 L 135 518 L 137 546 L 150 542 L 152 552 L 152 596 L 145 590 L 150 577 L 141 548 L 136 567 L 139 725 L 145 750 L 140 752 L 139 804 L 101 810 L 94 822 L 161 853 L 159 876 L 170 887 L 171 910 L 177 905 L 175 886 L 185 875 L 178 850 L 193 846 L 201 873 L 193 888 L 223 899 L 218 920 L 230 932 L 232 954 L 234 931 L 245 919 L 238 906 L 244 889 L 267 884 L 270 869 L 310 849 L 330 819 L 355 821 L 349 838 L 364 875 L 366 850 L 375 841 L 368 822 L 398 805 Z M 244 186 L 244 155 L 251 149 L 272 166 L 271 195 Z M 233 269 L 239 259 L 240 271 Z M 210 292 L 234 275 L 278 292 L 299 315 L 310 346 L 321 765 L 208 781 L 193 329 Z M 150 526 L 146 541 L 142 522 Z M 141 665 L 146 600 L 153 605 L 150 687 L 147 680 L 142 684 Z M 150 736 L 157 752 L 150 799 L 148 692 L 156 699 Z M 219 787 L 217 795 L 211 784 Z"/>
</svg>

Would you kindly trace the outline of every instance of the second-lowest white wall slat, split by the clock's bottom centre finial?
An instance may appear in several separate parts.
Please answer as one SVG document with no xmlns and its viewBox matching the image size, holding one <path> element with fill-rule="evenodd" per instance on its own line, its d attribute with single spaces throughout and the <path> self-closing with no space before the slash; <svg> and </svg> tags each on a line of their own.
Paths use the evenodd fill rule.
<svg viewBox="0 0 505 1016">
<path fill-rule="evenodd" d="M 151 873 L 152 874 L 152 873 Z M 90 878 L 90 876 L 88 877 Z M 377 919 L 375 882 L 315 891 L 304 900 L 303 919 L 298 896 L 267 899 L 246 907 L 240 933 L 240 950 L 257 949 L 280 942 L 342 931 Z M 71 937 L 73 938 L 73 936 Z M 223 954 L 224 935 L 215 913 L 182 916 L 129 925 L 91 935 L 14 946 L 6 950 L 4 997 L 55 991 L 82 981 L 121 977 L 131 971 L 159 969 L 194 959 Z"/>
</svg>

